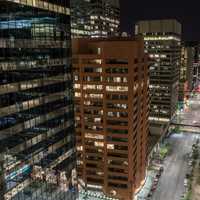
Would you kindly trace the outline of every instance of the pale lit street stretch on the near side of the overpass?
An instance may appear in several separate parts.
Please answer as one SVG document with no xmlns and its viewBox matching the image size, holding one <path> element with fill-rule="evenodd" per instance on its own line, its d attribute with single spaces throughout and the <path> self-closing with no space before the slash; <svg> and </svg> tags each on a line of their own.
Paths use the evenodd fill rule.
<svg viewBox="0 0 200 200">
<path fill-rule="evenodd" d="M 172 151 L 164 161 L 164 172 L 153 194 L 153 200 L 181 199 L 185 191 L 184 178 L 189 168 L 186 154 L 191 152 L 192 144 L 198 137 L 191 133 L 179 133 L 168 139 Z"/>
</svg>

